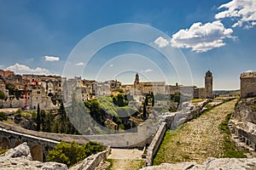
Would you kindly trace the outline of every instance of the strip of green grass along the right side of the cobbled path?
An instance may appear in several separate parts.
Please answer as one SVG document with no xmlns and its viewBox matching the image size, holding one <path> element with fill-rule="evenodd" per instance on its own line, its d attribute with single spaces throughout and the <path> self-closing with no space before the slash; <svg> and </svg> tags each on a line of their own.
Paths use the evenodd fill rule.
<svg viewBox="0 0 256 170">
<path fill-rule="evenodd" d="M 245 150 L 240 150 L 238 147 L 236 147 L 236 144 L 234 144 L 230 139 L 230 129 L 229 129 L 229 122 L 230 117 L 232 116 L 232 113 L 228 114 L 224 121 L 220 123 L 219 129 L 221 133 L 224 133 L 224 154 L 222 157 L 229 157 L 229 158 L 246 158 L 247 156 L 244 155 Z"/>
</svg>

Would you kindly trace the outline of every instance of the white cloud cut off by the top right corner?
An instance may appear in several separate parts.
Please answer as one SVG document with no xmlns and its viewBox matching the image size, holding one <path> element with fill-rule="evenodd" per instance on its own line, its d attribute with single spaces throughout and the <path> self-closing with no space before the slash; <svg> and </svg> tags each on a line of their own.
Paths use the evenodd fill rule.
<svg viewBox="0 0 256 170">
<path fill-rule="evenodd" d="M 230 3 L 222 4 L 218 9 L 222 8 L 224 8 L 224 11 L 216 14 L 216 19 L 232 18 L 232 20 L 236 20 L 233 27 L 251 28 L 256 25 L 255 0 L 232 0 Z"/>
</svg>

